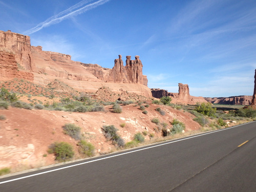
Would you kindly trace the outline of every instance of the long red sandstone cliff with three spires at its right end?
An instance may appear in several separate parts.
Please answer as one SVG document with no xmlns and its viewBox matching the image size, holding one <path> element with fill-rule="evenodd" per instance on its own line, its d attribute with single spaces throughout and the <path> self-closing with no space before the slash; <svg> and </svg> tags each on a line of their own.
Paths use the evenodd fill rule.
<svg viewBox="0 0 256 192">
<path fill-rule="evenodd" d="M 126 56 L 125 63 L 123 66 L 121 55 L 115 59 L 113 69 L 73 61 L 70 55 L 31 46 L 27 35 L 0 31 L 0 80 L 20 77 L 47 86 L 57 79 L 84 93 L 96 93 L 105 86 L 115 93 L 125 90 L 152 97 L 139 56 L 136 55 L 135 60 Z"/>
</svg>

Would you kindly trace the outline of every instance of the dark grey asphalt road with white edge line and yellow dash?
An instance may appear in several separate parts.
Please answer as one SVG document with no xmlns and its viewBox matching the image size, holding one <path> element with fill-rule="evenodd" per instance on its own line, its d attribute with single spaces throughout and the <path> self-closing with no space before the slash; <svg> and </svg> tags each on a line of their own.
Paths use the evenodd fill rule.
<svg viewBox="0 0 256 192">
<path fill-rule="evenodd" d="M 251 122 L 6 177 L 0 191 L 256 191 L 255 136 Z"/>
</svg>

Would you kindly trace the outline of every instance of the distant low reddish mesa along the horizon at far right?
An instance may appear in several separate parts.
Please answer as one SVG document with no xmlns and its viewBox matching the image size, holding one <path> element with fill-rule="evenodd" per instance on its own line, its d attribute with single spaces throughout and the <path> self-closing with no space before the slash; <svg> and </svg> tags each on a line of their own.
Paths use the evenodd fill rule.
<svg viewBox="0 0 256 192">
<path fill-rule="evenodd" d="M 231 97 L 204 97 L 204 99 L 211 103 L 250 105 L 252 96 L 241 95 Z"/>
</svg>

